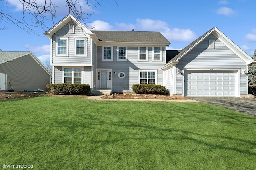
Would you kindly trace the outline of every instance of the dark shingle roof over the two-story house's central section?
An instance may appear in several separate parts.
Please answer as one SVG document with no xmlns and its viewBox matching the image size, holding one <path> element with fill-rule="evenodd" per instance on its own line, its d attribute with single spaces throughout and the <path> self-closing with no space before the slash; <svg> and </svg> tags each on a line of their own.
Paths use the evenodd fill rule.
<svg viewBox="0 0 256 170">
<path fill-rule="evenodd" d="M 92 31 L 99 41 L 131 43 L 166 43 L 170 42 L 160 32 L 146 31 Z"/>
</svg>

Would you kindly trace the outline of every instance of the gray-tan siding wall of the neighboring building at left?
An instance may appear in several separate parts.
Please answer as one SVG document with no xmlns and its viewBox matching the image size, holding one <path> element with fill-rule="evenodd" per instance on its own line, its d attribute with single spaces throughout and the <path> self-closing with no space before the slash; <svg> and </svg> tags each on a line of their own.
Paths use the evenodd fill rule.
<svg viewBox="0 0 256 170">
<path fill-rule="evenodd" d="M 11 90 L 10 80 L 15 91 L 45 90 L 50 83 L 50 75 L 30 55 L 0 64 L 0 73 L 7 74 L 6 90 Z"/>
</svg>

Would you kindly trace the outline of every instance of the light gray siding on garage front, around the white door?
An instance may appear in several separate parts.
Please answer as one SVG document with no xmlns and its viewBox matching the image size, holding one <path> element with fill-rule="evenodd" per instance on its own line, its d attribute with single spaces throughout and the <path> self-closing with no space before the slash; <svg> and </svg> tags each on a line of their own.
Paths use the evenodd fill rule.
<svg viewBox="0 0 256 170">
<path fill-rule="evenodd" d="M 215 49 L 208 49 L 209 39 L 215 40 Z M 240 68 L 246 70 L 246 63 L 224 45 L 214 35 L 209 35 L 204 41 L 197 45 L 186 56 L 180 59 L 176 67 L 183 68 Z M 240 94 L 246 94 L 247 76 L 241 72 Z M 176 94 L 182 94 L 182 75 L 177 74 Z"/>
</svg>

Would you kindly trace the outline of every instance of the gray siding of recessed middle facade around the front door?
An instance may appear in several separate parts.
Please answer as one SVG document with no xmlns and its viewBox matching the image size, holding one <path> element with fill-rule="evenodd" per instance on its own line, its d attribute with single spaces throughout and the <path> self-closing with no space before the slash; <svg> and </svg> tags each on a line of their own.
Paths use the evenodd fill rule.
<svg viewBox="0 0 256 170">
<path fill-rule="evenodd" d="M 139 84 L 139 70 L 157 70 L 157 83 L 163 84 L 163 71 L 160 69 L 165 63 L 165 47 L 162 47 L 163 61 L 152 62 L 152 47 L 148 47 L 148 61 L 138 61 L 138 47 L 128 47 L 127 61 L 116 61 L 117 47 L 113 47 L 113 61 L 102 61 L 102 46 L 97 47 L 97 68 L 112 69 L 116 75 L 112 74 L 113 92 L 131 90 L 133 84 Z M 119 72 L 125 72 L 126 77 L 120 79 Z M 131 90 L 132 92 L 132 90 Z"/>
</svg>

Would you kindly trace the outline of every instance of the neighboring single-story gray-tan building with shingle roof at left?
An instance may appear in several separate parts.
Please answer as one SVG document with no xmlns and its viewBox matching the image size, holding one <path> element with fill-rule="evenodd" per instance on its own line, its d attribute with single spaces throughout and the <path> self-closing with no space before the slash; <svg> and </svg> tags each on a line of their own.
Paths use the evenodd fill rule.
<svg viewBox="0 0 256 170">
<path fill-rule="evenodd" d="M 1 90 L 45 90 L 51 76 L 32 52 L 0 51 Z"/>
</svg>

